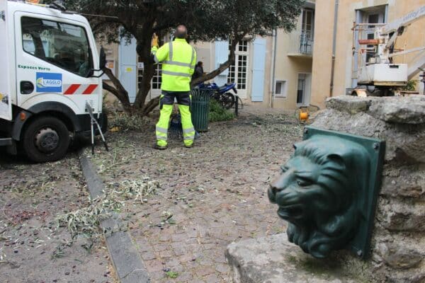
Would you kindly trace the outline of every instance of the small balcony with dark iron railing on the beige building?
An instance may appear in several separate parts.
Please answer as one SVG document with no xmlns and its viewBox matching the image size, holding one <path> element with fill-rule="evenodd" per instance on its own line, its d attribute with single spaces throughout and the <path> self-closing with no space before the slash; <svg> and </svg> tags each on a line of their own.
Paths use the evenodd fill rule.
<svg viewBox="0 0 425 283">
<path fill-rule="evenodd" d="M 314 37 L 310 32 L 295 32 L 288 35 L 288 56 L 307 57 L 313 55 Z"/>
</svg>

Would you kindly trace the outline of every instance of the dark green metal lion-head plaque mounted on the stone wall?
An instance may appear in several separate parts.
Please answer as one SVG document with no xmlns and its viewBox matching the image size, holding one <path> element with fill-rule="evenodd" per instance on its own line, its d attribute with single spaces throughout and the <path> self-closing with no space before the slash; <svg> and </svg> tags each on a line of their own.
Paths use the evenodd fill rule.
<svg viewBox="0 0 425 283">
<path fill-rule="evenodd" d="M 268 190 L 289 241 L 316 258 L 343 248 L 367 258 L 385 142 L 306 127 L 294 147 Z"/>
</svg>

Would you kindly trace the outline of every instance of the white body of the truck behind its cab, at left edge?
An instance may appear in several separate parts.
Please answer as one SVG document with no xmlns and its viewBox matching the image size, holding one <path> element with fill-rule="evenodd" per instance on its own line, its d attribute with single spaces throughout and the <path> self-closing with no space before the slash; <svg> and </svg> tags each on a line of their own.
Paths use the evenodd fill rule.
<svg viewBox="0 0 425 283">
<path fill-rule="evenodd" d="M 10 76 L 10 54 L 8 50 L 8 21 L 7 1 L 0 1 L 0 66 L 2 71 L 0 76 L 0 119 L 12 120 L 11 105 L 11 76 Z"/>
</svg>

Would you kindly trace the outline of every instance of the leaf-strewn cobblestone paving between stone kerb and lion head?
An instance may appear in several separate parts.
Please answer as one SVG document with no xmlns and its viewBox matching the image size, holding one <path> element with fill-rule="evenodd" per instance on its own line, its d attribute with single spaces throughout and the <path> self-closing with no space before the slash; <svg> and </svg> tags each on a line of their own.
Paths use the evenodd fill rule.
<svg viewBox="0 0 425 283">
<path fill-rule="evenodd" d="M 155 151 L 152 123 L 146 132 L 109 134 L 113 151 L 98 152 L 94 163 L 107 183 L 146 175 L 162 183 L 126 211 L 153 282 L 229 282 L 229 243 L 285 229 L 266 189 L 301 136 L 292 117 L 242 112 L 211 124 L 192 149 L 172 140 Z"/>
</svg>

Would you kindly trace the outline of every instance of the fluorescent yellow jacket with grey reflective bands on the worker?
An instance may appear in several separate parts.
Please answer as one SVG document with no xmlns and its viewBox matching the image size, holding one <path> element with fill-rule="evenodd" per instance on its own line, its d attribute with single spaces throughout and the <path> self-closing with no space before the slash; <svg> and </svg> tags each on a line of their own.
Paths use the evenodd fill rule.
<svg viewBox="0 0 425 283">
<path fill-rule="evenodd" d="M 191 91 L 191 77 L 195 71 L 196 51 L 185 39 L 176 38 L 162 47 L 152 47 L 157 63 L 162 63 L 163 91 Z"/>
</svg>

